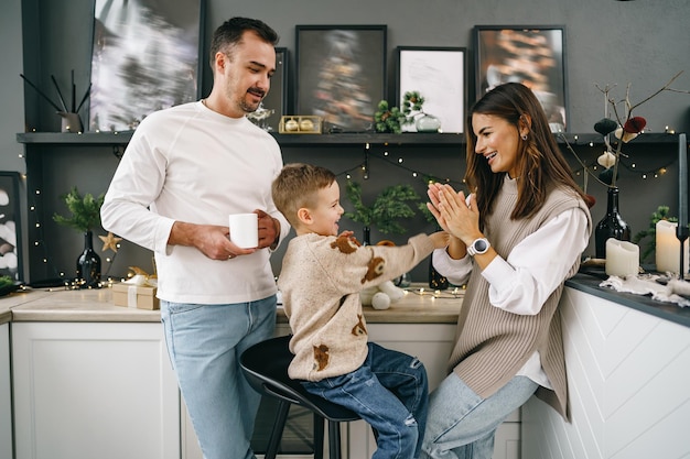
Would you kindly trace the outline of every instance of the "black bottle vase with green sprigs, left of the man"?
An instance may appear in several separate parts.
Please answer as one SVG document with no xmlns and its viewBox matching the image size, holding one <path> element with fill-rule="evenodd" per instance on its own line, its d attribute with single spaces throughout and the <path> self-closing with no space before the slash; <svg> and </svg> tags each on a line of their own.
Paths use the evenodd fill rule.
<svg viewBox="0 0 690 459">
<path fill-rule="evenodd" d="M 96 226 L 100 226 L 100 206 L 105 195 L 94 197 L 90 193 L 82 196 L 76 186 L 68 193 L 61 196 L 69 217 L 64 217 L 57 212 L 53 215 L 53 220 L 84 233 L 84 252 L 77 259 L 77 278 L 79 287 L 93 288 L 100 286 L 100 256 L 94 251 L 94 232 Z"/>
</svg>

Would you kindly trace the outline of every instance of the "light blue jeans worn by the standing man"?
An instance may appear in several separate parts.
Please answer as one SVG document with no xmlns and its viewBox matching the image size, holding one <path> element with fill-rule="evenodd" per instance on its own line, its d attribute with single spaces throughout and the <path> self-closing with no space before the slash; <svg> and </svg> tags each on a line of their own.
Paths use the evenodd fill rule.
<svg viewBox="0 0 690 459">
<path fill-rule="evenodd" d="M 273 335 L 276 296 L 231 305 L 161 302 L 172 365 L 205 459 L 254 459 L 260 395 L 239 357 Z"/>
</svg>

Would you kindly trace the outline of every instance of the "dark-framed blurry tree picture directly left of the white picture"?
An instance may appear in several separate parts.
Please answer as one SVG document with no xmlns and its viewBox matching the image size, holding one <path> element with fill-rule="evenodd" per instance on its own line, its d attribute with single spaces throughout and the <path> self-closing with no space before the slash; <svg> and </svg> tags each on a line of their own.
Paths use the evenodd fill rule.
<svg viewBox="0 0 690 459">
<path fill-rule="evenodd" d="M 297 25 L 294 114 L 325 132 L 373 130 L 386 99 L 387 25 Z"/>
</svg>

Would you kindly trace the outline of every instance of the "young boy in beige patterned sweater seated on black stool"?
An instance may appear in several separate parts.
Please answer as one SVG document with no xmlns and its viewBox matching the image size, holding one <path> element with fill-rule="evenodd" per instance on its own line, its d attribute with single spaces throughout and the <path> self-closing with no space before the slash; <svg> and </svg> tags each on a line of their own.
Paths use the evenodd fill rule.
<svg viewBox="0 0 690 459">
<path fill-rule="evenodd" d="M 338 236 L 343 215 L 335 175 L 285 165 L 272 185 L 276 207 L 294 228 L 278 287 L 294 353 L 288 374 L 308 392 L 357 413 L 377 434 L 377 459 L 417 458 L 427 424 L 423 364 L 367 340 L 359 292 L 392 280 L 446 245 L 446 234 L 418 234 L 401 247 L 360 247 Z"/>
</svg>

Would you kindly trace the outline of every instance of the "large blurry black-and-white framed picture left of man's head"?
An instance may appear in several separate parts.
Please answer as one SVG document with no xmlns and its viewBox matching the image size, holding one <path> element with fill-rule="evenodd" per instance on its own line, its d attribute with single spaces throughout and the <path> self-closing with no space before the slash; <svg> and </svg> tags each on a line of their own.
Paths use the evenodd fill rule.
<svg viewBox="0 0 690 459">
<path fill-rule="evenodd" d="M 204 0 L 93 4 L 89 131 L 131 131 L 153 111 L 201 99 Z"/>
</svg>

